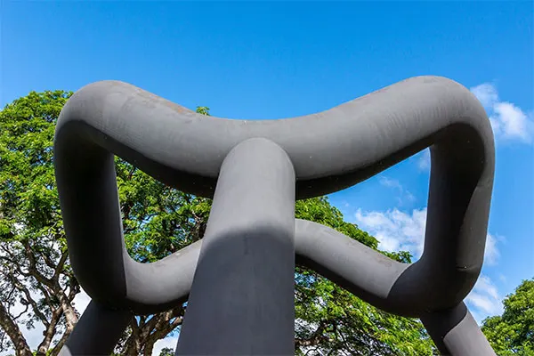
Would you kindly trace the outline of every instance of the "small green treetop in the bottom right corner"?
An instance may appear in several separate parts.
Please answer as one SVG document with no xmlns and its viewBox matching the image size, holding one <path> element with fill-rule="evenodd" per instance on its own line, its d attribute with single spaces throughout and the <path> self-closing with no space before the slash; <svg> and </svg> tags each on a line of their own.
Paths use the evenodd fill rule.
<svg viewBox="0 0 534 356">
<path fill-rule="evenodd" d="M 482 332 L 499 356 L 533 356 L 534 279 L 523 280 L 503 303 L 503 314 L 486 318 Z"/>
</svg>

